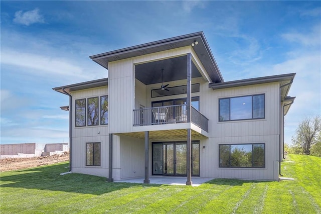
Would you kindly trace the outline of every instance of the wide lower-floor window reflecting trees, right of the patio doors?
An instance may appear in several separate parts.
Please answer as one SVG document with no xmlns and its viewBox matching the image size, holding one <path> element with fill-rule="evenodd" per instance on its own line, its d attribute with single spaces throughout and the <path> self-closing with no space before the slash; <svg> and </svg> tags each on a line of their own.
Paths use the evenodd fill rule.
<svg viewBox="0 0 321 214">
<path fill-rule="evenodd" d="M 264 168 L 265 144 L 220 144 L 219 167 Z"/>
</svg>

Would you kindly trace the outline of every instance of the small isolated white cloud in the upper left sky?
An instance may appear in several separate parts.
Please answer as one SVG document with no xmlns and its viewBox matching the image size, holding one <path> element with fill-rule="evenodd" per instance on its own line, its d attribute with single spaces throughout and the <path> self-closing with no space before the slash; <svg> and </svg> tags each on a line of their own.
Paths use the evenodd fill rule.
<svg viewBox="0 0 321 214">
<path fill-rule="evenodd" d="M 22 25 L 32 25 L 35 23 L 45 23 L 45 19 L 42 15 L 39 14 L 39 9 L 36 8 L 33 11 L 17 11 L 15 13 L 14 22 Z"/>
</svg>

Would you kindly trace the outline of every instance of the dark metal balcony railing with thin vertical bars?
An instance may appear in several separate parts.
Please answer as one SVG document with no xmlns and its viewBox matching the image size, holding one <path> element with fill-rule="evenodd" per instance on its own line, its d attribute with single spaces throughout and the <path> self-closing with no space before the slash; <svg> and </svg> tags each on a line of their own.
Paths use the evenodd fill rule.
<svg viewBox="0 0 321 214">
<path fill-rule="evenodd" d="M 134 126 L 150 126 L 187 122 L 186 104 L 137 109 L 133 110 L 133 113 Z M 191 113 L 191 122 L 208 132 L 209 120 L 193 106 Z"/>
</svg>

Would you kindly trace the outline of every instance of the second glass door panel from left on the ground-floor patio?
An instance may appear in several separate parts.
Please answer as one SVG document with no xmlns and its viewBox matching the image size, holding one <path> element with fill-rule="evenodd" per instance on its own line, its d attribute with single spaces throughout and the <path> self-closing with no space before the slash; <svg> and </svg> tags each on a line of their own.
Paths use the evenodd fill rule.
<svg viewBox="0 0 321 214">
<path fill-rule="evenodd" d="M 163 145 L 164 175 L 174 175 L 174 144 Z"/>
</svg>

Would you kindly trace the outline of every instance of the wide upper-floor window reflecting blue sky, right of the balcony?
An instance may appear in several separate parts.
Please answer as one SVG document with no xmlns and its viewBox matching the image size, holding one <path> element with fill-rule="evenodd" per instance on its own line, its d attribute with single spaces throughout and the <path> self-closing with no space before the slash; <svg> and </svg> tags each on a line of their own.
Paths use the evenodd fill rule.
<svg viewBox="0 0 321 214">
<path fill-rule="evenodd" d="M 219 99 L 219 121 L 265 118 L 265 95 L 238 96 Z"/>
</svg>

